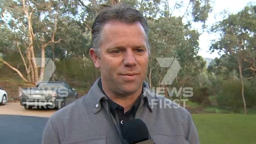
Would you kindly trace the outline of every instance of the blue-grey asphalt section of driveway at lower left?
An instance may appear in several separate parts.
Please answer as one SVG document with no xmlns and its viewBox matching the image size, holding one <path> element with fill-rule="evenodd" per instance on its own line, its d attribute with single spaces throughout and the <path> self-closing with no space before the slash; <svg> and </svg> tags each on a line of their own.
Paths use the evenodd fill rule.
<svg viewBox="0 0 256 144">
<path fill-rule="evenodd" d="M 41 144 L 48 118 L 0 114 L 1 144 Z"/>
</svg>

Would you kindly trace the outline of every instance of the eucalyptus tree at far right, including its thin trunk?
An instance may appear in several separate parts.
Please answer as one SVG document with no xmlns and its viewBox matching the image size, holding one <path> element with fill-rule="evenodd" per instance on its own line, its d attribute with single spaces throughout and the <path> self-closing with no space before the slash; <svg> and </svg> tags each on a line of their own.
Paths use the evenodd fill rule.
<svg viewBox="0 0 256 144">
<path fill-rule="evenodd" d="M 244 96 L 244 72 L 251 70 L 255 79 L 255 33 L 256 33 L 256 6 L 246 6 L 237 14 L 231 14 L 228 18 L 215 24 L 213 32 L 218 32 L 220 38 L 213 41 L 210 50 L 221 51 L 236 59 L 239 79 L 241 82 L 241 97 L 243 99 L 244 113 L 247 113 Z M 244 62 L 248 63 L 244 68 Z M 246 64 L 245 64 L 246 65 Z"/>
</svg>

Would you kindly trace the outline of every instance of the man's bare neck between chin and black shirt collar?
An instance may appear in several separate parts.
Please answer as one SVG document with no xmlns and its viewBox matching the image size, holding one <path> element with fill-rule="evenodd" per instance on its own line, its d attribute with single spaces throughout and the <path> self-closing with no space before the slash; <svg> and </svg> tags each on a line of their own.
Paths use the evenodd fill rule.
<svg viewBox="0 0 256 144">
<path fill-rule="evenodd" d="M 132 105 L 134 105 L 134 103 L 136 102 L 136 100 L 139 98 L 141 94 L 142 88 L 143 86 L 141 85 L 141 87 L 133 94 L 122 95 L 122 94 L 116 94 L 115 92 L 112 92 L 111 90 L 106 89 L 106 87 L 104 87 L 102 83 L 102 89 L 104 90 L 108 98 L 110 98 L 113 102 L 124 107 L 124 113 L 126 113 L 126 111 L 131 109 Z"/>
</svg>

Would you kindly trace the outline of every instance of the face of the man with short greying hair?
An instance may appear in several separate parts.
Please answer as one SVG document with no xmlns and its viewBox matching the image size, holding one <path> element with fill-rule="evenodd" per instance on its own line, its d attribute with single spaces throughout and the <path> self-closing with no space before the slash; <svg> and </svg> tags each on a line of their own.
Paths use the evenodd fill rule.
<svg viewBox="0 0 256 144">
<path fill-rule="evenodd" d="M 145 32 L 139 22 L 110 21 L 103 26 L 100 44 L 100 68 L 103 88 L 115 94 L 137 92 L 147 76 L 148 51 Z"/>
</svg>

